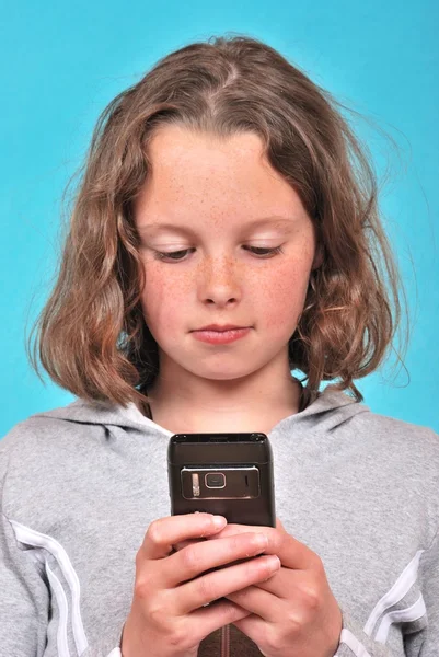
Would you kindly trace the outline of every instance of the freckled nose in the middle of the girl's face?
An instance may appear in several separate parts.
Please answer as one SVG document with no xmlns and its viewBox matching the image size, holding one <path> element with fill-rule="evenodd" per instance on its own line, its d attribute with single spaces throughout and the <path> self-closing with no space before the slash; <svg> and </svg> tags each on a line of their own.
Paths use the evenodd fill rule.
<svg viewBox="0 0 439 657">
<path fill-rule="evenodd" d="M 198 274 L 198 298 L 203 303 L 227 306 L 236 303 L 242 293 L 242 273 L 232 258 L 208 258 Z"/>
</svg>

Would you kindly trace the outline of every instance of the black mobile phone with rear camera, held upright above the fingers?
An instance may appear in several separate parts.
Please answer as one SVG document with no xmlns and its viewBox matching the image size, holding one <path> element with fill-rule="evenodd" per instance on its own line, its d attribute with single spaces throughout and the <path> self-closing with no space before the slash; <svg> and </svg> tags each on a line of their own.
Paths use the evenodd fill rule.
<svg viewBox="0 0 439 657">
<path fill-rule="evenodd" d="M 273 451 L 265 434 L 175 434 L 167 448 L 171 514 L 276 527 Z"/>
</svg>

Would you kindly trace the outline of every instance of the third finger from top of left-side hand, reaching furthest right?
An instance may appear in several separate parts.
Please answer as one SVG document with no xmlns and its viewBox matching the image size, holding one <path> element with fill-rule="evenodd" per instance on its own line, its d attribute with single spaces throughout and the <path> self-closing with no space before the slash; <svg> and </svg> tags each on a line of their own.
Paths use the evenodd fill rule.
<svg viewBox="0 0 439 657">
<path fill-rule="evenodd" d="M 257 556 L 245 563 L 229 566 L 181 585 L 177 602 L 180 614 L 187 614 L 234 591 L 263 581 L 280 567 L 276 556 Z"/>
</svg>

